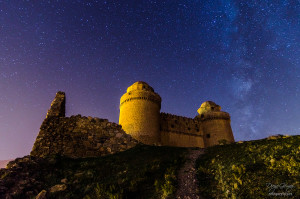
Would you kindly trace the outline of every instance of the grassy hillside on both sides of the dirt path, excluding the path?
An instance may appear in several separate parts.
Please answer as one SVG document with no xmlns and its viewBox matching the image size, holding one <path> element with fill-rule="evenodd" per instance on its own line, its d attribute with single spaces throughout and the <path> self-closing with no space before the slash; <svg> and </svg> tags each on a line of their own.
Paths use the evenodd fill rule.
<svg viewBox="0 0 300 199">
<path fill-rule="evenodd" d="M 268 198 L 269 193 L 296 198 L 299 143 L 300 136 L 289 136 L 207 148 L 196 166 L 200 193 L 206 198 Z M 0 198 L 39 193 L 46 198 L 174 198 L 188 151 L 138 144 L 96 158 L 25 156 L 0 170 Z M 286 187 L 274 187 L 282 183 Z"/>
</svg>

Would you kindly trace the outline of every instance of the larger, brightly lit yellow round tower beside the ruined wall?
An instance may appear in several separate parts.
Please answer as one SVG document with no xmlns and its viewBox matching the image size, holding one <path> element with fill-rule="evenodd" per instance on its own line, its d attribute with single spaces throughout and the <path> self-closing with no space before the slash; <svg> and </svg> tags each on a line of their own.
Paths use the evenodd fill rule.
<svg viewBox="0 0 300 199">
<path fill-rule="evenodd" d="M 119 124 L 144 144 L 160 142 L 161 97 L 147 83 L 138 81 L 120 99 Z"/>
</svg>

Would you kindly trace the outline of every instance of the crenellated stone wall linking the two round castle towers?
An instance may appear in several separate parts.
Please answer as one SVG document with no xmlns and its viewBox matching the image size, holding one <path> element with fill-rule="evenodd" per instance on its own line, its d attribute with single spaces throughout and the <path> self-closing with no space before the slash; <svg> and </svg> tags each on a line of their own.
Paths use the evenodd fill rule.
<svg viewBox="0 0 300 199">
<path fill-rule="evenodd" d="M 192 118 L 160 114 L 161 144 L 178 147 L 204 148 L 201 122 Z"/>
</svg>

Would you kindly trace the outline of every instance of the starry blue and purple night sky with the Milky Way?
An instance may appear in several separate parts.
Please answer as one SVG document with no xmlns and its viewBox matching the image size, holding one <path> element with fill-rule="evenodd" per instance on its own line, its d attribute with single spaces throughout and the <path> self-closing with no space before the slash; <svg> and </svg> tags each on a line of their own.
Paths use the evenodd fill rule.
<svg viewBox="0 0 300 199">
<path fill-rule="evenodd" d="M 216 102 L 236 140 L 300 134 L 300 1 L 0 0 L 0 159 L 30 153 L 57 91 L 118 122 L 136 81 L 163 112 Z"/>
</svg>

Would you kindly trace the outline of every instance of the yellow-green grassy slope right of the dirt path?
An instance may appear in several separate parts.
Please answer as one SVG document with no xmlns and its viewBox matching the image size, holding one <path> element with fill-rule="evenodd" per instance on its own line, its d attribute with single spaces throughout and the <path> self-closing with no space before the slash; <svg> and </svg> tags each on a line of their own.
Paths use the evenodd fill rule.
<svg viewBox="0 0 300 199">
<path fill-rule="evenodd" d="M 300 136 L 214 146 L 197 160 L 206 198 L 296 198 Z"/>
</svg>

